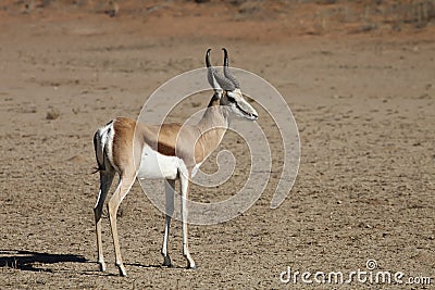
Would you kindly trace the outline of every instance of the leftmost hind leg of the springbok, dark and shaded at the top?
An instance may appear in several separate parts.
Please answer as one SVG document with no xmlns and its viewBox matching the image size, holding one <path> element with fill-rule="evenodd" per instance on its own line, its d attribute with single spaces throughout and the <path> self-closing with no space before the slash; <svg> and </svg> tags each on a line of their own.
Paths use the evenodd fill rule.
<svg viewBox="0 0 435 290">
<path fill-rule="evenodd" d="M 100 172 L 100 190 L 98 192 L 97 203 L 94 207 L 95 223 L 96 223 L 96 235 L 97 235 L 97 252 L 98 263 L 100 264 L 100 270 L 105 270 L 104 256 L 102 254 L 102 241 L 101 241 L 101 215 L 104 200 L 108 196 L 109 189 L 112 185 L 114 177 L 114 171 Z"/>
</svg>

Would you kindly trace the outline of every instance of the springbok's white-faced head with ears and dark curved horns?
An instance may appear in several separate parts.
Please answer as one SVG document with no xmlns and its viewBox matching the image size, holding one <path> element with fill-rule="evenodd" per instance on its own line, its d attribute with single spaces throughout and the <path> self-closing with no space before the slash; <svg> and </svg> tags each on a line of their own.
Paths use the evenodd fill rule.
<svg viewBox="0 0 435 290">
<path fill-rule="evenodd" d="M 224 74 L 221 75 L 210 64 L 210 51 L 206 53 L 206 64 L 208 67 L 208 79 L 210 86 L 214 89 L 214 97 L 219 99 L 220 105 L 223 105 L 227 115 L 235 115 L 240 118 L 256 121 L 258 118 L 257 111 L 245 100 L 240 90 L 240 84 L 232 75 L 228 68 L 228 53 L 224 51 Z"/>
</svg>

